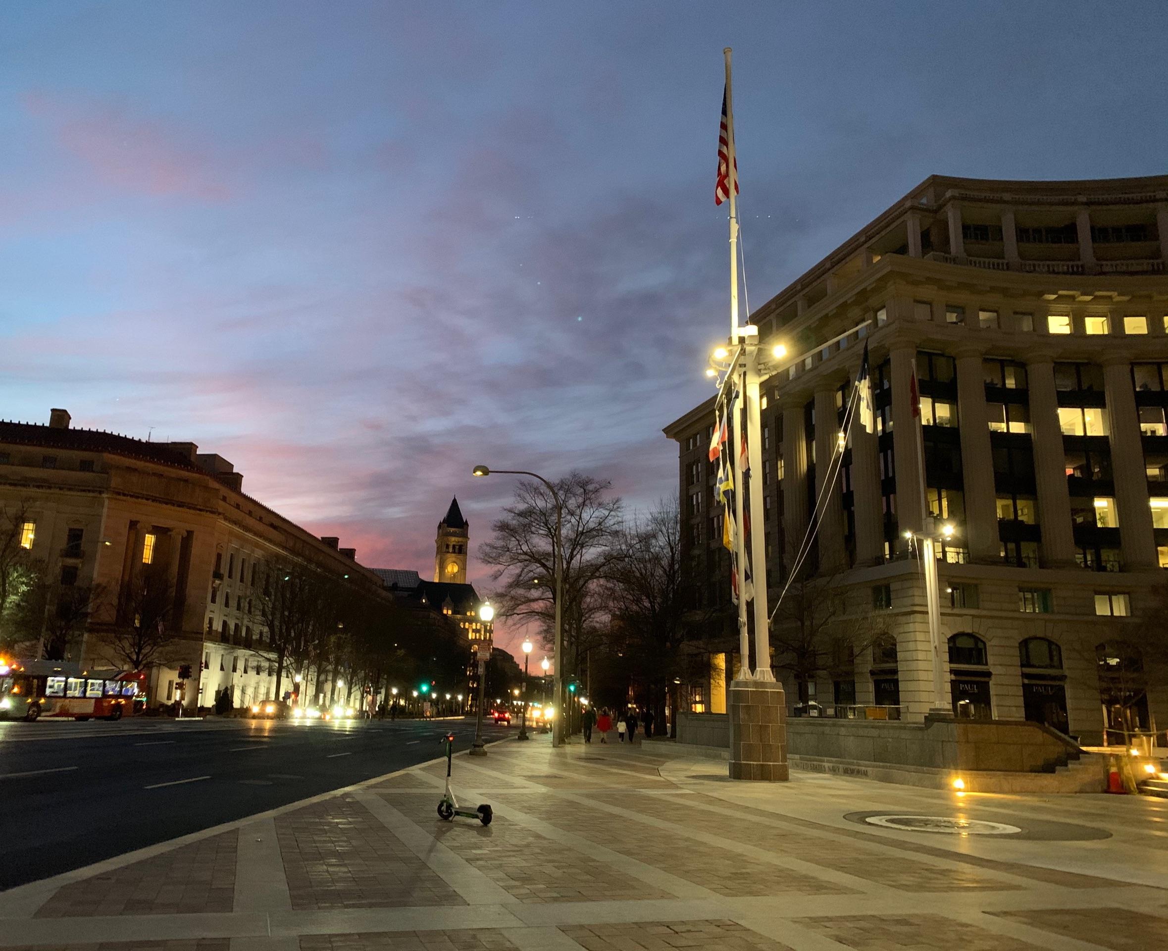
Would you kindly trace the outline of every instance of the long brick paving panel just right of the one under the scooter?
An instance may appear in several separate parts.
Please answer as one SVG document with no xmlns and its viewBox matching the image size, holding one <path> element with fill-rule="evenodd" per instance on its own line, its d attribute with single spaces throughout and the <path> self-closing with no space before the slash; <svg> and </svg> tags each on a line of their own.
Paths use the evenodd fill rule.
<svg viewBox="0 0 1168 951">
<path fill-rule="evenodd" d="M 621 793 L 614 801 L 620 805 L 623 799 Z M 572 801 L 548 801 L 548 797 L 541 796 L 509 796 L 506 803 L 718 895 L 780 895 L 792 891 L 827 895 L 849 891 L 832 882 L 757 861 L 741 852 L 695 845 L 683 838 L 684 829 L 673 833 L 612 815 L 603 808 L 590 808 Z M 717 829 L 721 831 L 721 826 Z M 710 831 L 710 826 L 705 826 L 704 831 Z"/>
</svg>

